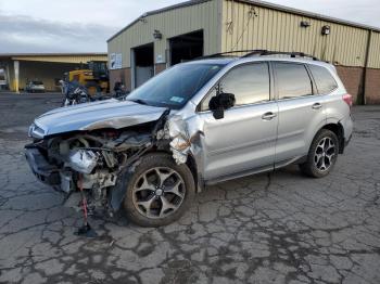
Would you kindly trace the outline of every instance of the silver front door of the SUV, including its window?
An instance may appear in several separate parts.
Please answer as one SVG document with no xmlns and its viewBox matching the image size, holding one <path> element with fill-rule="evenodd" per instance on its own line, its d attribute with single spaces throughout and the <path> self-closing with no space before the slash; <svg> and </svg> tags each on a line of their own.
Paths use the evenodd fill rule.
<svg viewBox="0 0 380 284">
<path fill-rule="evenodd" d="M 215 119 L 208 101 L 202 103 L 204 179 L 223 179 L 244 171 L 274 167 L 278 107 L 270 100 L 267 63 L 250 63 L 232 68 L 215 89 L 233 93 L 236 106 Z"/>
</svg>

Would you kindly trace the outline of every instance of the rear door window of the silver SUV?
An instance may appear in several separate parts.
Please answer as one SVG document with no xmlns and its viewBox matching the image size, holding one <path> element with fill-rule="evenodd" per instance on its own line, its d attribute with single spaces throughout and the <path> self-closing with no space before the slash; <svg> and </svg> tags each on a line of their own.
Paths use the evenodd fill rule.
<svg viewBox="0 0 380 284">
<path fill-rule="evenodd" d="M 312 80 L 303 64 L 276 63 L 275 69 L 279 99 L 313 94 Z"/>
</svg>

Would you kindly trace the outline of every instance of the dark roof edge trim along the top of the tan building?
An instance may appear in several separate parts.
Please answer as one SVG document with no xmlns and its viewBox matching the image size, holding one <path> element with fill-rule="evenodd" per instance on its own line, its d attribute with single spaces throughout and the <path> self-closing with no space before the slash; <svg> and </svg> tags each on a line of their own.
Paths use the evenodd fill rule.
<svg viewBox="0 0 380 284">
<path fill-rule="evenodd" d="M 113 35 L 111 38 L 109 38 L 106 41 L 107 42 L 111 41 L 112 39 L 114 39 L 115 37 L 121 35 L 123 31 L 125 31 L 126 29 L 128 29 L 129 27 L 131 27 L 132 25 L 138 23 L 141 18 L 144 18 L 147 16 L 160 14 L 160 13 L 163 13 L 163 12 L 167 12 L 167 11 L 170 11 L 170 10 L 185 8 L 185 7 L 189 7 L 189 5 L 195 5 L 195 4 L 200 4 L 200 3 L 208 2 L 208 1 L 213 1 L 213 0 L 191 0 L 191 1 L 186 1 L 186 2 L 182 2 L 182 3 L 178 3 L 178 4 L 175 4 L 175 5 L 169 5 L 169 7 L 166 7 L 166 8 L 163 8 L 163 9 L 159 9 L 159 10 L 153 10 L 153 11 L 147 12 L 147 13 L 142 14 L 141 16 L 139 16 L 138 18 L 136 18 L 129 25 L 127 25 L 126 27 L 124 27 L 123 29 L 117 31 L 115 35 Z M 268 8 L 268 9 L 282 11 L 282 12 L 288 12 L 288 13 L 292 13 L 292 14 L 296 14 L 296 15 L 301 15 L 301 16 L 307 16 L 307 17 L 311 17 L 311 18 L 327 21 L 327 22 L 331 22 L 331 23 L 337 23 L 337 24 L 342 24 L 342 25 L 346 25 L 346 26 L 358 27 L 358 28 L 364 28 L 364 29 L 369 29 L 369 30 L 375 30 L 375 31 L 379 31 L 380 33 L 380 28 L 379 27 L 364 25 L 364 24 L 359 24 L 359 23 L 355 23 L 355 22 L 351 22 L 351 21 L 337 18 L 337 17 L 330 17 L 330 16 L 321 15 L 321 14 L 318 14 L 318 13 L 303 11 L 303 10 L 289 8 L 289 7 L 284 7 L 284 5 L 273 4 L 273 3 L 269 3 L 269 2 L 265 2 L 265 1 L 259 1 L 259 0 L 235 0 L 235 1 L 237 1 L 237 2 L 245 2 L 245 3 L 249 3 L 249 4 L 256 5 L 256 7 Z"/>
</svg>

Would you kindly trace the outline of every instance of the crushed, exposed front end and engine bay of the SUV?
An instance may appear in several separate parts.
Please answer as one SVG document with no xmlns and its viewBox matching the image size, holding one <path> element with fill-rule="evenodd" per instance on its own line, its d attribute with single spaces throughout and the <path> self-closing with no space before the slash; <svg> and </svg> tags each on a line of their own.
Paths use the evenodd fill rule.
<svg viewBox="0 0 380 284">
<path fill-rule="evenodd" d="M 125 129 L 98 129 L 52 135 L 26 145 L 34 173 L 69 196 L 84 192 L 89 211 L 119 209 L 125 196 L 122 176 L 149 152 L 172 153 L 177 164 L 187 162 L 191 139 L 180 117 L 163 113 L 159 120 Z"/>
</svg>

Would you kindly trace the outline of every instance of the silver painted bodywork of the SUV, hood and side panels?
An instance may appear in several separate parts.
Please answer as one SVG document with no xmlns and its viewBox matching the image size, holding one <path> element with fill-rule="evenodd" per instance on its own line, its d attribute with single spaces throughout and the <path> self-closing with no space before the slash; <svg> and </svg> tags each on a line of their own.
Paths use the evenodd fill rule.
<svg viewBox="0 0 380 284">
<path fill-rule="evenodd" d="M 327 67 L 335 77 L 339 88 L 327 95 L 236 106 L 226 111 L 225 118 L 219 120 L 211 112 L 197 111 L 201 101 L 229 69 L 240 64 L 261 61 L 299 62 Z M 195 138 L 191 142 L 190 154 L 197 162 L 199 173 L 206 181 L 238 176 L 239 172 L 249 172 L 250 169 L 273 169 L 275 164 L 294 160 L 307 153 L 314 135 L 329 122 L 341 122 L 345 139 L 350 138 L 350 107 L 342 100 L 345 89 L 332 65 L 306 59 L 276 56 L 228 62 L 182 109 L 175 112 L 187 125 L 187 137 Z M 322 107 L 313 109 L 316 102 L 321 103 Z M 100 102 L 53 111 L 36 119 L 35 124 L 46 131 L 45 134 L 53 134 L 104 127 L 128 127 L 156 120 L 163 112 L 162 107 L 131 102 Z M 267 112 L 273 112 L 276 117 L 269 121 L 263 120 L 262 115 Z"/>
</svg>

